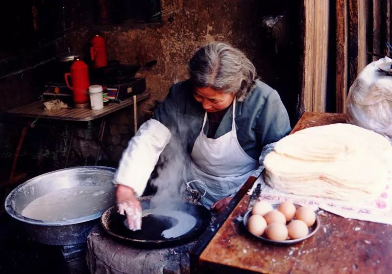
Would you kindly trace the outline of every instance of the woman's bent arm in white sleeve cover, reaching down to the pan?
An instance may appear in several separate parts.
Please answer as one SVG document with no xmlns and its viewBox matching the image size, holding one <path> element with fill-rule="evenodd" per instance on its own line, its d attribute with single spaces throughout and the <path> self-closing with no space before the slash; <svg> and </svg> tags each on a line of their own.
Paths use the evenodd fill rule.
<svg viewBox="0 0 392 274">
<path fill-rule="evenodd" d="M 126 215 L 127 227 L 142 228 L 142 207 L 136 197 L 141 196 L 158 158 L 171 139 L 175 120 L 172 92 L 158 109 L 160 115 L 148 120 L 131 138 L 123 152 L 113 183 L 117 184 L 116 199 L 119 213 Z"/>
</svg>

